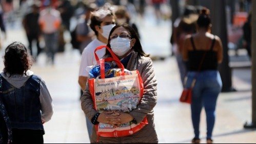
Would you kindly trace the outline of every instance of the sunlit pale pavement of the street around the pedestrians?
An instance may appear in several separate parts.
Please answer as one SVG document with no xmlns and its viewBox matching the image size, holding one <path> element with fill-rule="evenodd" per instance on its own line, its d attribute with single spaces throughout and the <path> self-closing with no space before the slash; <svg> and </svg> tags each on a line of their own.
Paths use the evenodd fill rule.
<svg viewBox="0 0 256 144">
<path fill-rule="evenodd" d="M 144 21 L 140 25 L 144 49 L 155 43 L 170 46 L 170 22 L 162 21 L 159 26 Z M 68 39 L 68 38 L 67 38 Z M 24 30 L 9 28 L 6 46 L 11 41 L 27 44 Z M 164 51 L 164 50 L 163 50 Z M 168 49 L 166 49 L 166 53 Z M 3 49 L 0 51 L 3 56 Z M 64 53 L 56 55 L 54 66 L 45 63 L 42 53 L 32 70 L 41 76 L 52 95 L 54 114 L 46 123 L 45 143 L 89 143 L 85 116 L 80 105 L 80 88 L 77 83 L 80 54 L 67 44 Z M 158 81 L 158 102 L 154 108 L 155 127 L 160 143 L 190 143 L 193 129 L 190 118 L 190 107 L 179 102 L 182 91 L 178 66 L 174 57 L 164 61 L 153 61 Z M 3 69 L 3 61 L 0 63 Z M 215 143 L 255 143 L 256 131 L 243 128 L 245 122 L 251 121 L 251 71 L 250 67 L 232 69 L 232 85 L 236 92 L 221 93 L 216 108 L 216 123 L 213 131 Z M 202 143 L 206 142 L 205 112 L 202 111 Z"/>
</svg>

